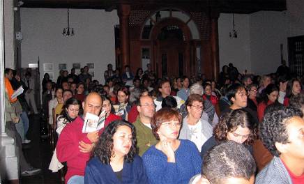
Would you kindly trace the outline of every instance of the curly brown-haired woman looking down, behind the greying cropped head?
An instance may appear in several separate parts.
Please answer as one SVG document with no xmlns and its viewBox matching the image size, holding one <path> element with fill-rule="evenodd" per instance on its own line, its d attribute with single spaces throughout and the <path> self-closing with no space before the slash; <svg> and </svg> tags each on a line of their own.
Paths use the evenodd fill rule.
<svg viewBox="0 0 304 184">
<path fill-rule="evenodd" d="M 220 122 L 213 129 L 213 136 L 202 146 L 201 156 L 213 146 L 222 141 L 236 141 L 252 151 L 252 144 L 257 137 L 257 125 L 253 117 L 245 109 L 233 110 L 220 118 Z"/>
</svg>

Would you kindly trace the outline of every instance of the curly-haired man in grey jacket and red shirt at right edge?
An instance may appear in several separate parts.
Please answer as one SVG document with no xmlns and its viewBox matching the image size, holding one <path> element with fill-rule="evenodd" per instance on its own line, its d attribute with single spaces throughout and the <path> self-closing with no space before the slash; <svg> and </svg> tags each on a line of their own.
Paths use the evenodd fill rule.
<svg viewBox="0 0 304 184">
<path fill-rule="evenodd" d="M 255 183 L 304 183 L 304 120 L 301 109 L 280 107 L 265 114 L 260 137 L 274 155 Z"/>
</svg>

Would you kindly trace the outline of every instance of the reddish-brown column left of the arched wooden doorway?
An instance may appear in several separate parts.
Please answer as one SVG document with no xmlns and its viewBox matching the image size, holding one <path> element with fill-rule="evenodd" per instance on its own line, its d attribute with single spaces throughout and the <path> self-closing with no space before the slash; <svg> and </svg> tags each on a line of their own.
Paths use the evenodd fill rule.
<svg viewBox="0 0 304 184">
<path fill-rule="evenodd" d="M 129 40 L 129 17 L 130 17 L 130 5 L 121 4 L 118 10 L 119 15 L 119 31 L 121 38 L 121 63 L 123 68 L 126 65 L 130 65 L 130 40 Z"/>
</svg>

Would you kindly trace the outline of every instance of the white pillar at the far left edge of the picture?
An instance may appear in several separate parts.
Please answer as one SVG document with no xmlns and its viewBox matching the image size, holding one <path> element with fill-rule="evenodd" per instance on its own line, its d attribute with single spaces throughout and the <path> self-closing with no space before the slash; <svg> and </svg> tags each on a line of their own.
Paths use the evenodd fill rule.
<svg viewBox="0 0 304 184">
<path fill-rule="evenodd" d="M 5 0 L 4 3 L 8 6 L 5 6 L 5 8 L 8 8 L 8 17 L 6 17 L 7 22 L 13 22 L 13 1 L 12 0 Z M 6 15 L 5 15 L 6 16 Z M 14 23 L 14 22 L 13 22 Z M 3 1 L 0 0 L 0 176 L 1 179 L 7 179 L 10 181 L 18 180 L 18 162 L 17 162 L 17 156 L 15 155 L 15 142 L 14 139 L 11 137 L 8 137 L 5 132 L 5 103 L 4 103 L 4 93 L 5 93 L 5 87 L 4 87 L 4 22 L 3 22 Z M 8 31 L 8 37 L 10 39 L 6 40 L 8 43 L 8 60 L 6 60 L 6 63 L 8 63 L 9 68 L 14 68 L 15 64 L 13 66 L 11 63 L 15 63 L 14 60 L 10 61 L 12 59 L 12 52 L 14 53 L 14 48 L 11 47 L 13 45 L 12 33 L 13 33 L 13 26 L 12 24 L 8 25 L 7 29 L 11 29 Z"/>
</svg>

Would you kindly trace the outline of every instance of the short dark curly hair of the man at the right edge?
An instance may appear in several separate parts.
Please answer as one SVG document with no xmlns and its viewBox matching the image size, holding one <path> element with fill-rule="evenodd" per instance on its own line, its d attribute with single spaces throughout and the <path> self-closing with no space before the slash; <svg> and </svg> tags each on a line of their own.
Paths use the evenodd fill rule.
<svg viewBox="0 0 304 184">
<path fill-rule="evenodd" d="M 303 118 L 303 112 L 294 107 L 278 107 L 265 114 L 259 125 L 259 137 L 271 154 L 277 157 L 280 155 L 275 147 L 276 142 L 288 143 L 287 123 L 295 116 Z"/>
</svg>

